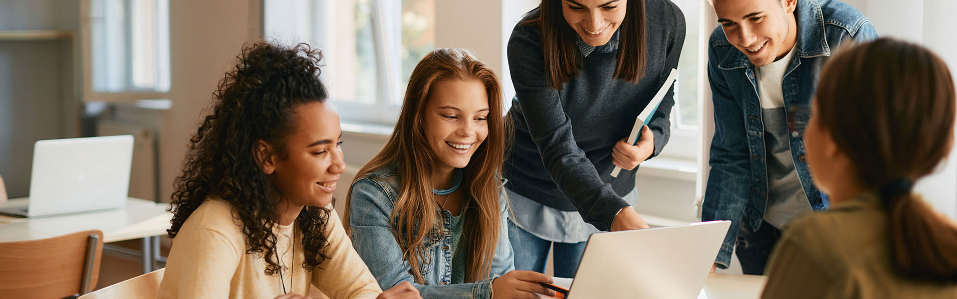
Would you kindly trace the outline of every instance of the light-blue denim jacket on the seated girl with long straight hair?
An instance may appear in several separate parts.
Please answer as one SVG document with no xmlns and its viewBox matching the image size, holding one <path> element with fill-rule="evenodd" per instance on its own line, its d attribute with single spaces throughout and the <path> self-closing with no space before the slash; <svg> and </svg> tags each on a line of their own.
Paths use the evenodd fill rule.
<svg viewBox="0 0 957 299">
<path fill-rule="evenodd" d="M 425 285 L 415 284 L 410 265 L 403 259 L 402 249 L 392 235 L 391 215 L 399 196 L 399 179 L 395 172 L 383 169 L 358 177 L 352 183 L 349 197 L 349 226 L 352 228 L 352 245 L 366 262 L 369 271 L 379 281 L 382 289 L 392 288 L 402 282 L 410 282 L 418 288 L 422 298 L 477 298 L 492 297 L 492 280 L 515 269 L 512 245 L 508 242 L 508 209 L 501 197 L 501 224 L 499 242 L 492 261 L 490 277 L 475 283 L 450 285 L 452 281 L 452 234 L 449 233 L 452 216 L 442 211 L 445 223 L 440 236 L 428 239 L 426 250 L 429 263 L 418 266 Z"/>
</svg>

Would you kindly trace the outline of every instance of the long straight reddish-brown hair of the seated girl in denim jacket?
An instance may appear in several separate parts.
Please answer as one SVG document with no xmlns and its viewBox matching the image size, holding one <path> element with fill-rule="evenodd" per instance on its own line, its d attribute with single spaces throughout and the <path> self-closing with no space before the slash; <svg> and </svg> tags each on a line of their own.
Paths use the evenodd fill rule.
<svg viewBox="0 0 957 299">
<path fill-rule="evenodd" d="M 489 277 L 501 232 L 501 165 L 509 131 L 505 124 L 511 123 L 502 116 L 501 85 L 491 67 L 463 49 L 436 49 L 422 58 L 412 70 L 402 112 L 389 141 L 356 177 L 387 167 L 396 169 L 400 183 L 391 215 L 391 222 L 397 224 L 392 235 L 411 265 L 415 282 L 425 284 L 420 266 L 431 260 L 426 241 L 442 229 L 435 186 L 431 184 L 438 158 L 426 146 L 425 126 L 426 104 L 439 81 L 479 81 L 488 94 L 488 137 L 462 169 L 462 190 L 467 192 L 461 241 L 467 248 L 465 282 L 477 282 Z M 349 199 L 346 196 L 345 223 L 349 221 Z"/>
</svg>

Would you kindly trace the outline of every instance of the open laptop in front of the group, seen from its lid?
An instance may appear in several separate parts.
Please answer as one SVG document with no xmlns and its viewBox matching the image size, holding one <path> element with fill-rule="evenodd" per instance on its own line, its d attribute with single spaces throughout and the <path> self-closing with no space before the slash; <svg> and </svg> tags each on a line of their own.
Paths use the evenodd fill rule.
<svg viewBox="0 0 957 299">
<path fill-rule="evenodd" d="M 568 298 L 697 298 L 730 225 L 707 221 L 592 234 Z"/>
</svg>

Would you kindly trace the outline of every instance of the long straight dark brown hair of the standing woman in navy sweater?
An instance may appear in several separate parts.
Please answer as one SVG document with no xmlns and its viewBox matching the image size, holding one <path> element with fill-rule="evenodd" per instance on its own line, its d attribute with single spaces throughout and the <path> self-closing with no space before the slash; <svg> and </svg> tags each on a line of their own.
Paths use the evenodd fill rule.
<svg viewBox="0 0 957 299">
<path fill-rule="evenodd" d="M 648 57 L 645 0 L 624 1 L 628 2 L 625 20 L 618 27 L 617 62 L 612 77 L 636 83 L 645 76 L 645 59 Z M 537 27 L 542 32 L 545 78 L 552 88 L 562 89 L 562 84 L 578 75 L 582 68 L 582 54 L 575 45 L 577 33 L 562 14 L 562 0 L 542 0 L 537 10 L 540 12 L 537 16 L 525 19 L 521 24 Z"/>
</svg>

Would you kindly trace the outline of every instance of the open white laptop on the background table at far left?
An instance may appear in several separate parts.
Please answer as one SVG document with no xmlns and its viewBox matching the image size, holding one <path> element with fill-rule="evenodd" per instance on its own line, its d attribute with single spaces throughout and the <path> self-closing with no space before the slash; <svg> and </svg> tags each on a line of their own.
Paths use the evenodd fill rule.
<svg viewBox="0 0 957 299">
<path fill-rule="evenodd" d="M 27 206 L 8 206 L 0 214 L 37 217 L 121 208 L 132 161 L 133 135 L 37 141 Z"/>
</svg>

